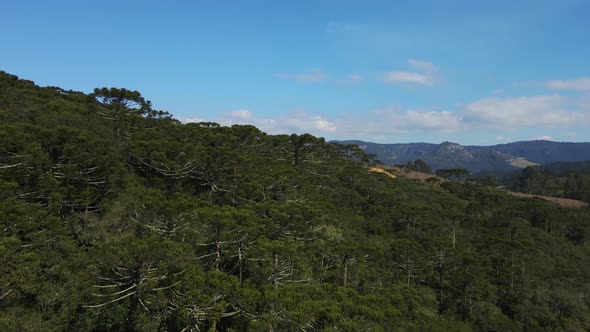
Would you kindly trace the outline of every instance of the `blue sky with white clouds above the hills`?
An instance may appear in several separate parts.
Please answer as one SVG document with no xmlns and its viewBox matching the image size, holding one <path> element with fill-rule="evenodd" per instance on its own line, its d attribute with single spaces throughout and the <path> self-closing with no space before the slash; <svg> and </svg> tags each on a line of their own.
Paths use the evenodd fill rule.
<svg viewBox="0 0 590 332">
<path fill-rule="evenodd" d="M 5 1 L 0 70 L 328 139 L 590 141 L 590 1 Z"/>
</svg>

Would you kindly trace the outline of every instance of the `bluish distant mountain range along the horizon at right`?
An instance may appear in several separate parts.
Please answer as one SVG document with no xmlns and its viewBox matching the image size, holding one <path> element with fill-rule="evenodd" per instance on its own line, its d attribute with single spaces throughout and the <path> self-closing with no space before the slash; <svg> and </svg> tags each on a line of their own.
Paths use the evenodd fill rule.
<svg viewBox="0 0 590 332">
<path fill-rule="evenodd" d="M 452 142 L 380 144 L 357 140 L 338 143 L 358 145 L 367 153 L 375 154 L 386 165 L 422 159 L 433 170 L 466 168 L 480 175 L 555 162 L 590 160 L 590 143 L 521 141 L 492 146 L 463 146 Z"/>
</svg>

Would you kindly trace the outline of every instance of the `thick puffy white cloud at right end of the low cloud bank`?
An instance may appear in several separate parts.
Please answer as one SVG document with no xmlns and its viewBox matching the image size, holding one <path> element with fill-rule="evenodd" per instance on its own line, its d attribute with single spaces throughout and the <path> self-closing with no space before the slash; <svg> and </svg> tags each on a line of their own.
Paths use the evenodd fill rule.
<svg viewBox="0 0 590 332">
<path fill-rule="evenodd" d="M 567 110 L 559 95 L 484 98 L 468 104 L 465 119 L 484 127 L 565 127 L 580 123 L 584 114 Z"/>
</svg>

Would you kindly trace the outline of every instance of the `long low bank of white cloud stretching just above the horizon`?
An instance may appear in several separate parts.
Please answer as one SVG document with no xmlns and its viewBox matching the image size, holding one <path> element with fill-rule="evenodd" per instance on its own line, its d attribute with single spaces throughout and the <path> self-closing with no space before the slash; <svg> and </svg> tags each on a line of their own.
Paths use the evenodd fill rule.
<svg viewBox="0 0 590 332">
<path fill-rule="evenodd" d="M 311 133 L 338 139 L 367 139 L 396 141 L 396 136 L 423 133 L 428 137 L 449 133 L 490 131 L 497 142 L 512 141 L 508 135 L 543 128 L 535 139 L 551 140 L 544 134 L 558 135 L 546 128 L 560 128 L 563 132 L 590 126 L 590 106 L 581 98 L 560 95 L 522 97 L 493 96 L 475 100 L 455 110 L 437 108 L 408 109 L 393 105 L 365 113 L 340 113 L 332 116 L 294 109 L 282 114 L 259 116 L 248 109 L 225 112 L 210 121 L 222 125 L 251 124 L 270 134 Z M 184 118 L 183 122 L 204 121 Z M 575 129 L 574 129 L 575 128 Z M 526 130 L 525 130 L 526 129 Z M 490 134 L 492 135 L 492 134 Z M 494 137 L 492 136 L 492 137 Z M 565 136 L 574 138 L 576 133 Z M 514 136 L 512 136 L 515 138 Z M 518 138 L 518 137 L 516 137 Z"/>
</svg>

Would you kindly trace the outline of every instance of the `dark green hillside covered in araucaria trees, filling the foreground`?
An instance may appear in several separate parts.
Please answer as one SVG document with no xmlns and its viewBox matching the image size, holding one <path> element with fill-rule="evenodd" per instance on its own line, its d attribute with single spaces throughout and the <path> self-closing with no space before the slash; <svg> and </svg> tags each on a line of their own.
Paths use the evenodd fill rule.
<svg viewBox="0 0 590 332">
<path fill-rule="evenodd" d="M 0 73 L 1 331 L 587 331 L 590 213 Z"/>
</svg>

